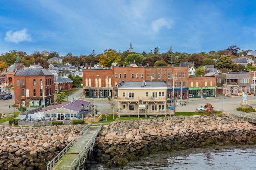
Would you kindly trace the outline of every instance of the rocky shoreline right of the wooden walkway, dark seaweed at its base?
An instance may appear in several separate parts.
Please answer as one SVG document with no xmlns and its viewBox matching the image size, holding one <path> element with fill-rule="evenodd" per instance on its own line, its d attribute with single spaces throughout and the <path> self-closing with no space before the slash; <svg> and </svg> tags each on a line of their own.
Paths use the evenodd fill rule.
<svg viewBox="0 0 256 170">
<path fill-rule="evenodd" d="M 255 137 L 254 124 L 230 113 L 114 121 L 96 138 L 94 157 L 109 168 L 163 150 L 254 145 Z"/>
</svg>

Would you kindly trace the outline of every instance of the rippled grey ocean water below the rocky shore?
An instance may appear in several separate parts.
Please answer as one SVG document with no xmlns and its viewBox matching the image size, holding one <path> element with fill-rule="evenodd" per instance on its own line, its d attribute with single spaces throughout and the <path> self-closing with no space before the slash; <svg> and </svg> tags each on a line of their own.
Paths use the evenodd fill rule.
<svg viewBox="0 0 256 170">
<path fill-rule="evenodd" d="M 256 145 L 160 152 L 118 168 L 92 160 L 81 170 L 256 170 Z"/>
</svg>

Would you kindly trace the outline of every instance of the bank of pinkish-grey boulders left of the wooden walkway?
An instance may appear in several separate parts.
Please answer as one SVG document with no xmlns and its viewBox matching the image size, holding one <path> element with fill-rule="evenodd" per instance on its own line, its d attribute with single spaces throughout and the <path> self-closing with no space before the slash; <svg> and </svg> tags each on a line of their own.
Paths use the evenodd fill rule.
<svg viewBox="0 0 256 170">
<path fill-rule="evenodd" d="M 0 127 L 1 170 L 46 170 L 84 125 Z"/>
</svg>

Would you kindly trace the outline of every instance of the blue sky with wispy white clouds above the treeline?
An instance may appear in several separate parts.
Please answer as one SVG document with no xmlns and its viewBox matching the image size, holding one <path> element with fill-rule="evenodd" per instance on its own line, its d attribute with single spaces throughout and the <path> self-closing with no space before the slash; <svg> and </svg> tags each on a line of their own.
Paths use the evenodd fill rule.
<svg viewBox="0 0 256 170">
<path fill-rule="evenodd" d="M 0 54 L 256 50 L 252 0 L 1 0 Z"/>
</svg>

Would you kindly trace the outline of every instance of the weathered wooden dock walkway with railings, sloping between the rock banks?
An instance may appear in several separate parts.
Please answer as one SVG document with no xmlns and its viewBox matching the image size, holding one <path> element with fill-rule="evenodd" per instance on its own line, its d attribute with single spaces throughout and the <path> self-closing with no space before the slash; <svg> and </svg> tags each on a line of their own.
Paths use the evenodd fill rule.
<svg viewBox="0 0 256 170">
<path fill-rule="evenodd" d="M 80 166 L 91 153 L 95 138 L 98 135 L 102 123 L 94 125 L 89 123 L 68 146 L 65 147 L 53 160 L 48 162 L 47 170 L 79 170 Z M 79 139 L 79 140 L 78 140 Z"/>
</svg>

